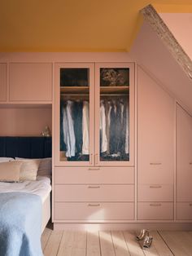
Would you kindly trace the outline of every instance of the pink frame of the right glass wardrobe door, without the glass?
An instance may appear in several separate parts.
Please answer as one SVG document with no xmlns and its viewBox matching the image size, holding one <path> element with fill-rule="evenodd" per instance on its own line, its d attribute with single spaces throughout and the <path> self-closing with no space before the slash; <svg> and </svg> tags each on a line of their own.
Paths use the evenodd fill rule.
<svg viewBox="0 0 192 256">
<path fill-rule="evenodd" d="M 129 161 L 99 160 L 99 109 L 100 106 L 100 68 L 129 68 Z M 130 62 L 110 62 L 95 64 L 95 166 L 134 166 L 134 64 Z"/>
</svg>

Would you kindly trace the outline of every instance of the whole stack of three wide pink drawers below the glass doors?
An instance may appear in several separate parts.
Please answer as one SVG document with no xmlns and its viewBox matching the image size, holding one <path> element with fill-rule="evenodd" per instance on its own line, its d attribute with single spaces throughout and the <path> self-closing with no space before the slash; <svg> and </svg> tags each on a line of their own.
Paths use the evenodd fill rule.
<svg viewBox="0 0 192 256">
<path fill-rule="evenodd" d="M 55 167 L 55 222 L 134 219 L 133 167 Z"/>
</svg>

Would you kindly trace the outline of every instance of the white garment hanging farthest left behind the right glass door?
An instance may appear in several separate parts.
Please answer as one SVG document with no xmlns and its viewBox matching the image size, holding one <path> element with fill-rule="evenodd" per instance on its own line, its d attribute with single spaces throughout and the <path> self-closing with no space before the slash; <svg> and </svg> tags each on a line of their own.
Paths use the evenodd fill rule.
<svg viewBox="0 0 192 256">
<path fill-rule="evenodd" d="M 101 141 L 101 152 L 107 152 L 107 134 L 106 134 L 106 113 L 104 101 L 101 100 L 100 104 L 100 141 Z"/>
</svg>

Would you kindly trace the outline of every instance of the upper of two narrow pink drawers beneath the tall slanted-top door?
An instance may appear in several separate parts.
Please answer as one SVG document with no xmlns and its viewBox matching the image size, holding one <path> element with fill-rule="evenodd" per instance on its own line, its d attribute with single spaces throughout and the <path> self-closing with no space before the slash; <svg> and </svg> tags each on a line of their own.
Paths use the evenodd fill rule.
<svg viewBox="0 0 192 256">
<path fill-rule="evenodd" d="M 138 201 L 173 201 L 173 185 L 138 185 Z"/>
</svg>

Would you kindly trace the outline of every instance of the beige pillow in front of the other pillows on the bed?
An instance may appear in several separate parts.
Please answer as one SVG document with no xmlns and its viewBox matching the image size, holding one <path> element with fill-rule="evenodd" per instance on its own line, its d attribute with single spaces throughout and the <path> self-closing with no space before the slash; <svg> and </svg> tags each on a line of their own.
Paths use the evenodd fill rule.
<svg viewBox="0 0 192 256">
<path fill-rule="evenodd" d="M 20 180 L 21 161 L 5 161 L 0 163 L 0 181 L 16 182 Z"/>
</svg>

